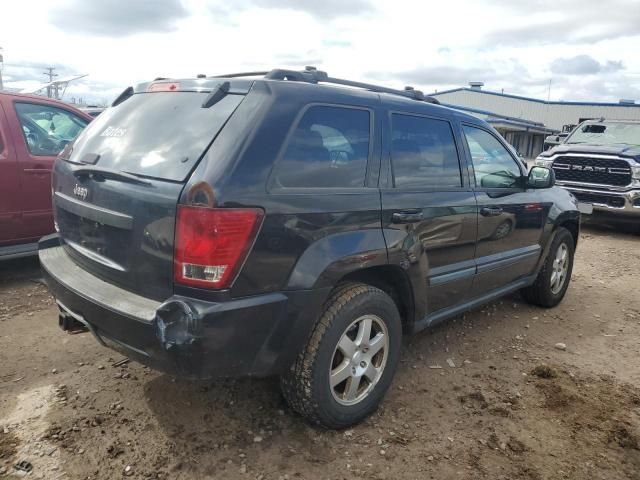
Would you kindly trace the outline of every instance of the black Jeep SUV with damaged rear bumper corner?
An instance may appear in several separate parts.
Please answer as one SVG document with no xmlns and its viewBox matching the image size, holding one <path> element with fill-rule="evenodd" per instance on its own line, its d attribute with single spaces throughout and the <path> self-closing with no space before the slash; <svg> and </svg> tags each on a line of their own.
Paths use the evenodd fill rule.
<svg viewBox="0 0 640 480">
<path fill-rule="evenodd" d="M 551 170 L 417 90 L 261 73 L 128 88 L 62 152 L 39 254 L 63 328 L 177 375 L 279 375 L 340 428 L 403 333 L 562 299 L 580 214 Z"/>
</svg>

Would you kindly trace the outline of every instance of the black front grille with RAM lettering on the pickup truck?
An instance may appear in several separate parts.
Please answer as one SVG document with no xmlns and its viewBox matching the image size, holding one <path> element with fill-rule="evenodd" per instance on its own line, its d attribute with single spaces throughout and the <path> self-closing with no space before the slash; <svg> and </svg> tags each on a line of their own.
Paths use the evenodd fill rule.
<svg viewBox="0 0 640 480">
<path fill-rule="evenodd" d="M 560 181 L 624 187 L 631 183 L 626 160 L 589 157 L 558 157 L 553 170 Z"/>
</svg>

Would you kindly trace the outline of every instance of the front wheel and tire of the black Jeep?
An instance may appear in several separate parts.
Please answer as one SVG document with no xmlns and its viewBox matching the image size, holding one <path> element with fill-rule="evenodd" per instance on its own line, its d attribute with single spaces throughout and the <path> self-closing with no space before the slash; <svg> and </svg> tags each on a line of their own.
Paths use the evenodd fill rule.
<svg viewBox="0 0 640 480">
<path fill-rule="evenodd" d="M 564 278 L 562 284 L 552 285 L 552 276 L 554 272 L 558 274 L 558 264 L 556 263 L 559 252 L 566 251 L 566 267 L 564 269 Z M 564 227 L 559 227 L 555 238 L 549 249 L 549 254 L 544 261 L 544 265 L 540 269 L 536 281 L 530 287 L 521 290 L 524 299 L 540 307 L 555 307 L 562 301 L 569 283 L 571 281 L 571 272 L 573 271 L 573 256 L 575 253 L 575 240 L 571 232 Z M 554 288 L 555 286 L 555 288 Z"/>
</svg>

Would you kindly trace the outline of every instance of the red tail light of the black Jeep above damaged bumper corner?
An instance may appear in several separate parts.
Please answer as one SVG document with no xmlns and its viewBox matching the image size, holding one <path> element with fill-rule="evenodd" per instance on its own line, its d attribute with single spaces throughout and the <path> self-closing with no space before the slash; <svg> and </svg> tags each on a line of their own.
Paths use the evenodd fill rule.
<svg viewBox="0 0 640 480">
<path fill-rule="evenodd" d="M 176 283 L 222 289 L 233 282 L 262 222 L 259 209 L 178 205 Z"/>
</svg>

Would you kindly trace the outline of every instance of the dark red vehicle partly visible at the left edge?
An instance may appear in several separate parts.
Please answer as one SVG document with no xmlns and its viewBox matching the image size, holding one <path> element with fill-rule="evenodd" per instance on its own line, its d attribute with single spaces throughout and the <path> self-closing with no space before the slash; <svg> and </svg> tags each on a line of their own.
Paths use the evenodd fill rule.
<svg viewBox="0 0 640 480">
<path fill-rule="evenodd" d="M 0 260 L 37 253 L 54 231 L 53 161 L 91 120 L 64 102 L 0 92 Z"/>
</svg>

